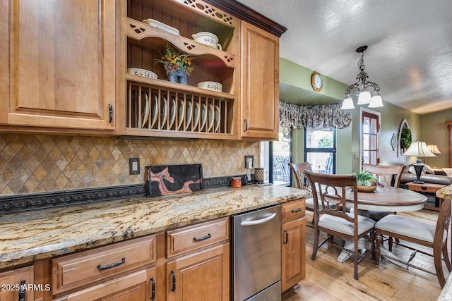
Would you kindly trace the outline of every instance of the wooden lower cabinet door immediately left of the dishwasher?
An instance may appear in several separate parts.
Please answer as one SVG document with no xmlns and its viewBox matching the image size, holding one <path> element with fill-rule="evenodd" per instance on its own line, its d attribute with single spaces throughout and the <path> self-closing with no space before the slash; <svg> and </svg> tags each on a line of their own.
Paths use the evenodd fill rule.
<svg viewBox="0 0 452 301">
<path fill-rule="evenodd" d="M 229 300 L 229 252 L 225 243 L 168 262 L 167 300 Z"/>
</svg>

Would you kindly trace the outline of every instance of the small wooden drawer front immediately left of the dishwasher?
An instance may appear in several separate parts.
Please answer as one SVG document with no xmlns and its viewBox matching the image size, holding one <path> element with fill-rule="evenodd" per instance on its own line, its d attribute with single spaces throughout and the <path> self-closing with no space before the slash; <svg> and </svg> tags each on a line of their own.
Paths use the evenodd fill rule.
<svg viewBox="0 0 452 301">
<path fill-rule="evenodd" d="M 167 257 L 213 245 L 222 240 L 229 241 L 228 217 L 167 231 Z"/>
</svg>

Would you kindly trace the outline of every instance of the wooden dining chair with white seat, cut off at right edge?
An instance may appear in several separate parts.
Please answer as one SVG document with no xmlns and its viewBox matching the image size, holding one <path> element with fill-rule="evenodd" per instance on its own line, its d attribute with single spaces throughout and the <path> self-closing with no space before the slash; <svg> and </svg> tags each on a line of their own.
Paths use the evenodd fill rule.
<svg viewBox="0 0 452 301">
<path fill-rule="evenodd" d="M 429 274 L 433 275 L 436 274 L 436 277 L 438 277 L 439 285 L 441 285 L 441 288 L 443 288 L 444 284 L 446 283 L 446 279 L 444 278 L 441 253 L 442 257 L 444 257 L 444 262 L 446 263 L 448 271 L 451 271 L 451 262 L 449 260 L 447 253 L 448 228 L 450 222 L 451 222 L 450 199 L 444 200 L 443 204 L 441 204 L 438 219 L 436 221 L 436 226 L 431 223 L 424 223 L 423 221 L 410 219 L 407 216 L 391 214 L 383 217 L 383 219 L 376 222 L 375 224 L 375 240 L 376 240 L 374 254 L 375 263 L 379 264 L 379 259 L 381 256 L 380 245 L 383 240 L 382 238 L 383 235 L 388 235 L 390 237 L 389 252 L 392 252 L 393 250 L 393 242 L 391 238 L 398 238 L 400 240 L 412 242 L 417 245 L 430 247 L 433 249 L 433 254 L 431 253 L 429 254 L 422 250 L 416 250 L 415 247 L 410 247 L 395 242 L 396 245 L 408 247 L 408 249 L 415 250 L 412 256 L 410 256 L 410 259 L 408 259 L 408 262 L 404 262 L 403 260 L 400 260 L 399 258 L 392 256 L 391 253 L 389 254 L 385 253 L 382 256 L 392 259 L 396 262 L 400 262 L 412 268 L 420 269 L 421 271 L 425 271 Z M 410 264 L 411 260 L 415 257 L 416 252 L 427 254 L 433 257 L 436 273 L 424 269 L 422 266 Z"/>
</svg>

